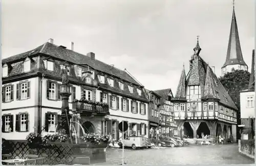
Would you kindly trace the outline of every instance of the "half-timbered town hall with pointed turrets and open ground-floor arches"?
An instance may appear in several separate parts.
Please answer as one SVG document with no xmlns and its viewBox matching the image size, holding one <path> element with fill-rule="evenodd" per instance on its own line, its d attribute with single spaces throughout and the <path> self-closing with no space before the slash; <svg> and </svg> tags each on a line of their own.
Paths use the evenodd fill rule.
<svg viewBox="0 0 256 166">
<path fill-rule="evenodd" d="M 173 98 L 179 135 L 196 139 L 204 135 L 236 138 L 237 107 L 218 77 L 200 57 L 197 42 L 190 69 L 181 73 Z"/>
</svg>

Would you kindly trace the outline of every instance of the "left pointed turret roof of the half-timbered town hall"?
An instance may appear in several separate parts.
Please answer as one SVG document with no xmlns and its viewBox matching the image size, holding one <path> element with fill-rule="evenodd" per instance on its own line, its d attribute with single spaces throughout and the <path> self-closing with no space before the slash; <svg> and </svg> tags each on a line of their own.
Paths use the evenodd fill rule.
<svg viewBox="0 0 256 166">
<path fill-rule="evenodd" d="M 173 100 L 186 100 L 186 73 L 185 73 L 185 68 L 183 65 L 183 70 L 181 72 L 181 76 L 180 76 L 180 81 L 179 81 L 179 85 L 177 87 L 177 91 L 176 91 L 176 95 L 173 98 Z"/>
</svg>

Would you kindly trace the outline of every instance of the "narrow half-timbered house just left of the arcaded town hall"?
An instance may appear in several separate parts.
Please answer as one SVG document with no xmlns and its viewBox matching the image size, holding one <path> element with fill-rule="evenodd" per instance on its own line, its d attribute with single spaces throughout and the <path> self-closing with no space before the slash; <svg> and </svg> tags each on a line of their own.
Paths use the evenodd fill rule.
<svg viewBox="0 0 256 166">
<path fill-rule="evenodd" d="M 177 136 L 177 124 L 174 120 L 174 103 L 172 102 L 173 93 L 171 89 L 154 91 L 160 99 L 160 134 L 161 136 Z"/>
</svg>

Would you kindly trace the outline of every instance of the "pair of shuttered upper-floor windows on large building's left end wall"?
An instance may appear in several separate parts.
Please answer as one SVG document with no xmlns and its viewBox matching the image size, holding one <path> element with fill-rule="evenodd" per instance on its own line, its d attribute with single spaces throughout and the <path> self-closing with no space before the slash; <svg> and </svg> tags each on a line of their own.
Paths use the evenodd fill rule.
<svg viewBox="0 0 256 166">
<path fill-rule="evenodd" d="M 2 87 L 2 102 L 14 100 L 14 85 L 8 84 Z M 22 81 L 16 84 L 16 100 L 30 98 L 30 81 Z"/>
</svg>

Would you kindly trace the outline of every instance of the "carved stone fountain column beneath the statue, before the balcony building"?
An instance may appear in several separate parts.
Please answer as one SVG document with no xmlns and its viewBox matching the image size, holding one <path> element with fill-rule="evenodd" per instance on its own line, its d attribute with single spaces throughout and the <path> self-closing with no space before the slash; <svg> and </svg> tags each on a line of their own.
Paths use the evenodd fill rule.
<svg viewBox="0 0 256 166">
<path fill-rule="evenodd" d="M 69 96 L 71 95 L 71 86 L 69 84 L 60 85 L 60 96 L 62 101 L 61 116 L 60 116 L 60 130 L 65 129 L 68 137 L 71 137 L 70 119 L 72 116 L 69 114 Z"/>
</svg>

